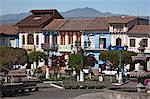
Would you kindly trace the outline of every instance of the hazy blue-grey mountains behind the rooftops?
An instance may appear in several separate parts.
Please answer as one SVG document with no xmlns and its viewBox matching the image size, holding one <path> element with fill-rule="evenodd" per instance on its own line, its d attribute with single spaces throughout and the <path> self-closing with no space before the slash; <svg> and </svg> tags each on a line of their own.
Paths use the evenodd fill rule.
<svg viewBox="0 0 150 99">
<path fill-rule="evenodd" d="M 27 17 L 28 15 L 30 15 L 30 13 L 20 13 L 20 14 L 7 14 L 7 15 L 3 15 L 0 16 L 0 24 L 4 24 L 4 23 L 16 23 L 19 20 L 22 20 L 23 18 Z M 61 12 L 61 15 L 64 18 L 94 18 L 97 16 L 119 16 L 121 14 L 113 14 L 110 12 L 100 12 L 94 8 L 89 8 L 89 7 L 85 7 L 85 8 L 77 8 L 77 9 L 72 9 L 66 12 Z"/>
</svg>

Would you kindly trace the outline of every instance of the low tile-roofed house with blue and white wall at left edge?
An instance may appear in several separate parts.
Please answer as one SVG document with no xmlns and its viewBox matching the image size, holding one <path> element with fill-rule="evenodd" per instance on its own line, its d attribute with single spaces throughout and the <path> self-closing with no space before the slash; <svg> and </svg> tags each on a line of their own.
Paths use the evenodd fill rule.
<svg viewBox="0 0 150 99">
<path fill-rule="evenodd" d="M 0 25 L 0 46 L 18 47 L 17 29 L 13 24 Z"/>
</svg>

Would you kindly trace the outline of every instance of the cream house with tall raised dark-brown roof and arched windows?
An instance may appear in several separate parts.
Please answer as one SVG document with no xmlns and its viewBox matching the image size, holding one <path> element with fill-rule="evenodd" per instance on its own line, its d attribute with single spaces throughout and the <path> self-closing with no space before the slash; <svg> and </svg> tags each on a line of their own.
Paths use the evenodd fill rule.
<svg viewBox="0 0 150 99">
<path fill-rule="evenodd" d="M 16 23 L 19 33 L 19 47 L 28 52 L 41 50 L 41 44 L 47 41 L 49 34 L 43 34 L 42 28 L 53 19 L 63 19 L 55 9 L 31 10 L 32 15 Z"/>
</svg>

